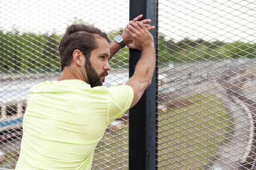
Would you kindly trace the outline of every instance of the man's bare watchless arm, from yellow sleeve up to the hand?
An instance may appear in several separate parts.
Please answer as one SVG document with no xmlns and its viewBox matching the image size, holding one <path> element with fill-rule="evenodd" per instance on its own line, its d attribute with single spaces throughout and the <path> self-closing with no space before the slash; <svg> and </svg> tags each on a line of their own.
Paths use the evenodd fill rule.
<svg viewBox="0 0 256 170">
<path fill-rule="evenodd" d="M 156 64 L 156 53 L 154 39 L 143 23 L 140 21 L 130 22 L 126 27 L 126 32 L 132 37 L 132 43 L 128 44 L 128 47 L 141 50 L 141 58 L 135 66 L 135 73 L 126 82 L 126 85 L 131 86 L 134 92 L 130 106 L 132 108 L 151 84 Z"/>
</svg>

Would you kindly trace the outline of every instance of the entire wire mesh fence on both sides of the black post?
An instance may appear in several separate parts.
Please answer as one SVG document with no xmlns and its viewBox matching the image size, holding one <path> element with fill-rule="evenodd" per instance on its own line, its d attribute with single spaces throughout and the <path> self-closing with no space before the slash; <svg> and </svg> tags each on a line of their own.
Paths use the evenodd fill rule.
<svg viewBox="0 0 256 170">
<path fill-rule="evenodd" d="M 0 167 L 19 157 L 28 89 L 60 75 L 68 25 L 109 37 L 128 23 L 129 1 L 1 1 Z M 159 169 L 255 169 L 256 3 L 159 1 Z M 105 86 L 128 80 L 128 49 Z M 93 169 L 128 169 L 128 114 L 111 123 Z"/>
</svg>

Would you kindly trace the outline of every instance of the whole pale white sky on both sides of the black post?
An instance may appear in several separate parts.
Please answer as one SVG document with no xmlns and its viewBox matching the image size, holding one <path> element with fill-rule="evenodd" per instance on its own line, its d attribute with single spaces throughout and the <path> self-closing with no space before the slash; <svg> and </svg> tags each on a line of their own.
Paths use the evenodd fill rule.
<svg viewBox="0 0 256 170">
<path fill-rule="evenodd" d="M 256 42 L 256 1 L 159 0 L 159 32 L 183 38 Z M 64 34 L 68 25 L 89 23 L 104 32 L 124 28 L 128 0 L 2 0 L 0 29 Z"/>
</svg>

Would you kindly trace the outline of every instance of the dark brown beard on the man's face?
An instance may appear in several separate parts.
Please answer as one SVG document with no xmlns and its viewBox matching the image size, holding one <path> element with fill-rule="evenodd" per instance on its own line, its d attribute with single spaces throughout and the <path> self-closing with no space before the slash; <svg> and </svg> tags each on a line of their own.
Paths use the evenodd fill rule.
<svg viewBox="0 0 256 170">
<path fill-rule="evenodd" d="M 88 78 L 88 83 L 91 85 L 91 88 L 95 86 L 102 86 L 104 80 L 100 80 L 100 77 L 108 75 L 107 71 L 103 71 L 100 75 L 95 71 L 93 66 L 91 65 L 90 59 L 86 60 L 84 64 L 84 68 L 86 71 L 86 75 Z"/>
</svg>

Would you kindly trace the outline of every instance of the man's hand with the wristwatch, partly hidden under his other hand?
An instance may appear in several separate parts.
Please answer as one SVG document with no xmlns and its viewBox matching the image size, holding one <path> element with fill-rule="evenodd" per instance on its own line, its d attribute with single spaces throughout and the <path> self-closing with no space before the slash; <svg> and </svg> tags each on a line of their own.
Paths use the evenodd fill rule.
<svg viewBox="0 0 256 170">
<path fill-rule="evenodd" d="M 141 19 L 142 17 L 143 17 L 143 15 L 140 14 L 140 15 L 137 16 L 135 19 L 133 19 L 132 21 L 130 21 L 130 23 L 139 21 L 139 19 Z M 151 22 L 150 19 L 144 19 L 144 20 L 141 21 L 141 23 L 143 23 L 143 25 L 148 29 L 148 31 L 154 29 L 154 26 L 148 24 L 148 23 L 150 23 L 150 22 Z M 128 25 L 130 25 L 130 23 L 129 23 Z M 130 34 L 128 34 L 128 32 L 127 32 L 127 27 L 124 29 L 124 32 L 123 32 L 123 34 L 121 34 L 121 36 L 123 37 L 124 43 L 125 43 L 126 45 L 129 45 L 129 44 L 132 43 L 132 37 L 130 36 Z M 137 49 L 137 48 L 135 47 L 135 49 Z"/>
</svg>

